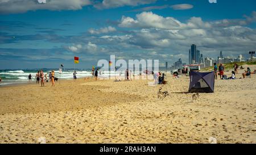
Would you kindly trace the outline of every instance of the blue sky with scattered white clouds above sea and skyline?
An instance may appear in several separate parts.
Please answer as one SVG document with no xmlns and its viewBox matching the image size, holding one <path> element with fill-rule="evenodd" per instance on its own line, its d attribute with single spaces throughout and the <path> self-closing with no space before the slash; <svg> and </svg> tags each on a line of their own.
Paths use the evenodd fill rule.
<svg viewBox="0 0 256 155">
<path fill-rule="evenodd" d="M 196 44 L 204 57 L 256 50 L 255 0 L 0 0 L 0 69 L 91 68 L 98 60 L 160 66 Z"/>
</svg>

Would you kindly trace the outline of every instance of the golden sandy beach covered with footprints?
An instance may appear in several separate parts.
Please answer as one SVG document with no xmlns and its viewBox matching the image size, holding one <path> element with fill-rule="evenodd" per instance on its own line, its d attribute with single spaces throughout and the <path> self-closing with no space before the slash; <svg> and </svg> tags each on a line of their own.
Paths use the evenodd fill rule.
<svg viewBox="0 0 256 155">
<path fill-rule="evenodd" d="M 238 79 L 241 73 L 217 79 L 215 93 L 196 102 L 187 93 L 189 77 L 170 74 L 164 100 L 149 80 L 2 86 L 0 143 L 256 143 L 256 75 Z"/>
</svg>

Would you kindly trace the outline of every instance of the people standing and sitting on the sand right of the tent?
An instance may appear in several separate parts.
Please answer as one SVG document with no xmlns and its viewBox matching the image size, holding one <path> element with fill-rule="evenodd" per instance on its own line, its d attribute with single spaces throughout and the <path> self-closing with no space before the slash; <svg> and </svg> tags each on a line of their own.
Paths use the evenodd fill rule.
<svg viewBox="0 0 256 155">
<path fill-rule="evenodd" d="M 224 75 L 224 70 L 225 70 L 224 65 L 220 64 L 220 66 L 217 66 L 217 64 L 214 63 L 215 79 L 217 79 L 218 74 L 220 74 L 221 79 L 236 79 L 236 74 L 238 74 L 238 65 L 234 64 L 233 68 L 234 68 L 234 70 L 232 71 L 232 76 L 228 78 Z M 247 70 L 245 70 L 245 73 L 242 73 L 242 76 L 243 76 L 243 78 L 246 78 L 246 77 L 250 76 L 250 74 L 251 74 L 251 70 L 250 70 L 250 68 L 247 68 Z"/>
</svg>

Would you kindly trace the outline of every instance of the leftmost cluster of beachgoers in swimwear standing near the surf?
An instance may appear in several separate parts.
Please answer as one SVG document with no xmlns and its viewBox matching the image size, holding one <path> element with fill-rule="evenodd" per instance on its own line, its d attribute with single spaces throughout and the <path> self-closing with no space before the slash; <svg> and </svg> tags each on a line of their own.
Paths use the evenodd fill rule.
<svg viewBox="0 0 256 155">
<path fill-rule="evenodd" d="M 41 81 L 41 86 L 44 86 L 44 81 L 48 82 L 47 79 L 47 73 L 44 74 L 43 70 L 40 70 L 40 72 L 38 71 L 38 73 L 36 73 L 36 83 L 39 84 Z M 32 81 L 32 76 L 31 74 L 28 76 L 28 81 L 31 82 Z M 55 72 L 54 70 L 52 70 L 51 72 L 49 72 L 49 81 L 51 81 L 52 86 L 55 86 Z"/>
</svg>

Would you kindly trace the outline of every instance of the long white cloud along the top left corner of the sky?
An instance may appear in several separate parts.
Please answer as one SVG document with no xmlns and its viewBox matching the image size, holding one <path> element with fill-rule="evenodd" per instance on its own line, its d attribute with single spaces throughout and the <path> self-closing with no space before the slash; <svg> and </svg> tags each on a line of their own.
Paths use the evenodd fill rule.
<svg viewBox="0 0 256 155">
<path fill-rule="evenodd" d="M 79 10 L 82 6 L 91 4 L 90 0 L 54 0 L 46 3 L 32 0 L 1 0 L 0 14 L 23 13 L 30 10 Z"/>
</svg>

